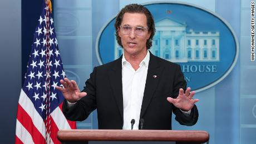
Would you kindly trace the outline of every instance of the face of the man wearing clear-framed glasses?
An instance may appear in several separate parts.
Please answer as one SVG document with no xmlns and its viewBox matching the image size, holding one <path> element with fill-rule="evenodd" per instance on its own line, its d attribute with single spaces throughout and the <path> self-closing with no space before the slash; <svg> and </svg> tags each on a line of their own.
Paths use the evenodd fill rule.
<svg viewBox="0 0 256 144">
<path fill-rule="evenodd" d="M 131 32 L 127 34 L 122 31 L 125 28 L 132 27 Z M 125 56 L 128 55 L 140 55 L 146 52 L 146 41 L 150 37 L 150 32 L 147 28 L 147 19 L 144 13 L 125 13 L 122 18 L 121 27 L 119 27 L 119 36 L 121 37 L 121 43 L 124 47 Z M 140 29 L 144 28 L 142 34 Z M 138 36 L 138 34 L 140 36 Z M 142 35 L 142 36 L 141 36 Z"/>
</svg>

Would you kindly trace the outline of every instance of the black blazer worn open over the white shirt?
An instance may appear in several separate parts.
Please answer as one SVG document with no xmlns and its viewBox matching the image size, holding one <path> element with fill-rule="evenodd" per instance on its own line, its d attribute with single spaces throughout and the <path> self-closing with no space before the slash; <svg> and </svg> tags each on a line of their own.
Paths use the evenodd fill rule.
<svg viewBox="0 0 256 144">
<path fill-rule="evenodd" d="M 122 129 L 124 108 L 121 61 L 122 57 L 93 69 L 83 89 L 87 96 L 72 108 L 67 108 L 66 101 L 63 103 L 63 113 L 68 120 L 83 121 L 97 108 L 99 129 Z M 197 122 L 198 110 L 195 105 L 190 115 L 186 116 L 166 100 L 169 96 L 177 97 L 179 88 L 186 90 L 180 66 L 150 53 L 140 112 L 140 118 L 145 121 L 144 129 L 171 130 L 172 111 L 176 115 L 175 120 L 181 125 L 191 126 Z"/>
</svg>

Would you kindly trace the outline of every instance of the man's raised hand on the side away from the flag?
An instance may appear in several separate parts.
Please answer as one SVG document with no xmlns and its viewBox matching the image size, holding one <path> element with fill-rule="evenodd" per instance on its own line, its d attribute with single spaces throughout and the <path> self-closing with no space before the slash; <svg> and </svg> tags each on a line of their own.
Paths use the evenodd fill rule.
<svg viewBox="0 0 256 144">
<path fill-rule="evenodd" d="M 173 103 L 175 107 L 180 108 L 183 111 L 189 111 L 194 107 L 194 104 L 198 102 L 198 99 L 194 99 L 195 91 L 190 92 L 191 88 L 188 87 L 184 93 L 183 89 L 180 88 L 179 96 L 177 98 L 168 97 L 167 100 Z"/>
</svg>

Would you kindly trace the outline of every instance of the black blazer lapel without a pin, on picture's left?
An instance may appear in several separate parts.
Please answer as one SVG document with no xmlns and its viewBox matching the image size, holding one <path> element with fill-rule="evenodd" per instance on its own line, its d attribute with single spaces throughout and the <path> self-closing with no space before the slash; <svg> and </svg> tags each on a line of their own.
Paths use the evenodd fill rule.
<svg viewBox="0 0 256 144">
<path fill-rule="evenodd" d="M 109 78 L 116 105 L 118 106 L 120 115 L 124 121 L 124 106 L 122 100 L 122 56 L 113 63 L 113 66 L 109 71 Z"/>
</svg>

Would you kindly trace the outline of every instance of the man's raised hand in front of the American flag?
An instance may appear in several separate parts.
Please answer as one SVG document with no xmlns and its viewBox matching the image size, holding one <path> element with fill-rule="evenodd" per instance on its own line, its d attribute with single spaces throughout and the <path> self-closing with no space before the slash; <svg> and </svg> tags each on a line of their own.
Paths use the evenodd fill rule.
<svg viewBox="0 0 256 144">
<path fill-rule="evenodd" d="M 73 80 L 70 81 L 68 78 L 64 78 L 64 80 L 61 80 L 60 82 L 63 87 L 56 86 L 56 88 L 62 92 L 68 102 L 75 103 L 87 95 L 86 92 L 81 92 L 79 90 L 76 82 Z"/>
</svg>

